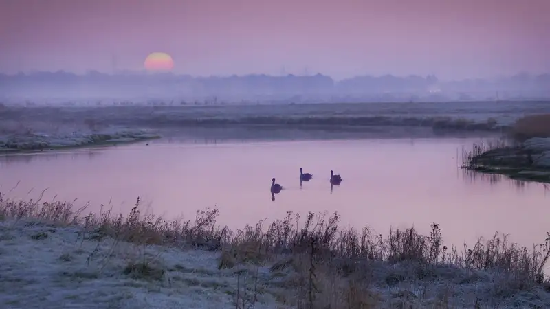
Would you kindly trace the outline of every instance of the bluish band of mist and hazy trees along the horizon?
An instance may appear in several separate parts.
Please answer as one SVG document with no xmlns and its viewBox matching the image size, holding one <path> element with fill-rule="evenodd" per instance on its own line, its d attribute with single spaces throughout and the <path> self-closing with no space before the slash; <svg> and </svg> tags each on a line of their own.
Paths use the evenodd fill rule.
<svg viewBox="0 0 550 309">
<path fill-rule="evenodd" d="M 211 76 L 173 73 L 76 75 L 58 71 L 0 74 L 0 98 L 19 100 L 177 100 L 171 104 L 300 102 L 418 102 L 449 100 L 541 100 L 550 98 L 550 73 L 496 79 L 439 80 L 437 76 Z M 205 102 L 207 101 L 207 102 Z"/>
</svg>

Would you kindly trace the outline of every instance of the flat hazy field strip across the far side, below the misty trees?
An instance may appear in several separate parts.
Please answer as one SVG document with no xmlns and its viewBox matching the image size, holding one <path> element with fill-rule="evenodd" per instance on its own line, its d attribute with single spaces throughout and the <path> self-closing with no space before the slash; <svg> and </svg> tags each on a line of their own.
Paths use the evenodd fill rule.
<svg viewBox="0 0 550 309">
<path fill-rule="evenodd" d="M 524 115 L 541 113 L 550 113 L 550 102 L 4 107 L 0 110 L 0 133 L 94 130 L 107 126 L 269 126 L 322 130 L 414 126 L 434 130 L 498 132 Z"/>
</svg>

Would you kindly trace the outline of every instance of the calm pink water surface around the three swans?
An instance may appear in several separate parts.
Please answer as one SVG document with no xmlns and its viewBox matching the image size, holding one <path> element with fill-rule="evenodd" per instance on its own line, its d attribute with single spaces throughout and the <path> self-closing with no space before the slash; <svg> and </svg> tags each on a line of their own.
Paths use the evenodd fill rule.
<svg viewBox="0 0 550 309">
<path fill-rule="evenodd" d="M 465 174 L 456 155 L 470 139 L 371 139 L 181 144 L 156 141 L 0 157 L 0 192 L 73 200 L 127 212 L 137 196 L 155 214 L 194 218 L 219 207 L 230 227 L 283 218 L 286 211 L 338 211 L 344 225 L 379 233 L 438 222 L 455 244 L 495 231 L 531 245 L 550 230 L 550 199 L 537 183 Z M 314 174 L 300 190 L 299 169 Z M 342 175 L 331 192 L 330 170 Z M 270 182 L 285 187 L 272 201 Z M 17 185 L 18 181 L 20 183 Z M 17 187 L 16 187 L 17 185 Z M 14 188 L 15 187 L 15 188 Z M 32 191 L 31 191 L 32 190 Z M 30 192 L 30 193 L 29 193 Z"/>
</svg>

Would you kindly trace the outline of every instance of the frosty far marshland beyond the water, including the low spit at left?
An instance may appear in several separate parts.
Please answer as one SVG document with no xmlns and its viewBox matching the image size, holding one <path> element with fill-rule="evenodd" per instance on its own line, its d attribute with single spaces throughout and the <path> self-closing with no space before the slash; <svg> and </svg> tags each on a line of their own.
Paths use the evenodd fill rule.
<svg viewBox="0 0 550 309">
<path fill-rule="evenodd" d="M 139 139 L 153 137 L 151 134 L 159 131 L 163 136 L 177 132 L 177 135 L 216 139 L 494 136 L 508 130 L 518 117 L 540 113 L 550 113 L 550 102 L 249 106 L 174 106 L 167 102 L 145 106 L 132 102 L 101 106 L 0 104 L 0 149 L 41 149 L 69 139 L 76 140 L 72 144 Z M 149 136 L 144 136 L 145 129 Z M 91 137 L 93 134 L 99 136 Z M 37 145 L 30 144 L 33 138 Z M 87 142 L 90 139 L 91 142 Z"/>
</svg>

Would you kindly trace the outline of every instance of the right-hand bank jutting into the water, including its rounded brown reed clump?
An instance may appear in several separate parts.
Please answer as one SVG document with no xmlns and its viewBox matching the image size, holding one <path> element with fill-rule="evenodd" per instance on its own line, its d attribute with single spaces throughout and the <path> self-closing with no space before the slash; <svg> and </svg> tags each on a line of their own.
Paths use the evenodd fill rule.
<svg viewBox="0 0 550 309">
<path fill-rule="evenodd" d="M 474 144 L 463 152 L 462 168 L 550 183 L 550 114 L 518 119 L 507 140 Z"/>
</svg>

